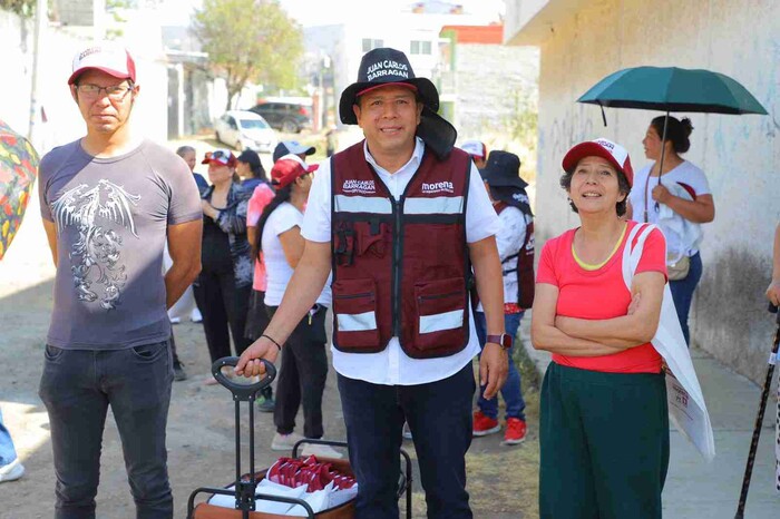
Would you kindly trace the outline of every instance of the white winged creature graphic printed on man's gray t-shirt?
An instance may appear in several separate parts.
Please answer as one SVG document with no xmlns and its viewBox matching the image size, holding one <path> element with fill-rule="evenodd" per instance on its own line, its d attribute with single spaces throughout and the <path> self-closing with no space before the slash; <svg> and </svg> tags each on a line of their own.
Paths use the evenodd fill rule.
<svg viewBox="0 0 780 519">
<path fill-rule="evenodd" d="M 91 188 L 80 184 L 51 204 L 58 234 L 65 227 L 78 227 L 79 239 L 69 257 L 79 301 L 91 303 L 100 298 L 105 310 L 116 309 L 127 274 L 119 263 L 121 236 L 107 226 L 121 225 L 138 237 L 131 207 L 139 200 L 140 195 L 131 195 L 121 186 L 101 179 Z M 94 284 L 103 285 L 101 295 Z"/>
</svg>

